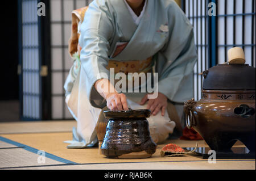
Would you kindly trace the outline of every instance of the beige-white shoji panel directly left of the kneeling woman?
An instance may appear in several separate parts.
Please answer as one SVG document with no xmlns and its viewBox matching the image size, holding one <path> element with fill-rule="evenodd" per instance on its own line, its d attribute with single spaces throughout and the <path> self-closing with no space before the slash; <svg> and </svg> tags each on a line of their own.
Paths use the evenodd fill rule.
<svg viewBox="0 0 256 181">
<path fill-rule="evenodd" d="M 72 66 L 68 54 L 68 40 L 71 36 L 71 12 L 88 6 L 89 0 L 51 0 L 51 77 L 52 77 L 52 119 L 72 119 L 65 106 L 65 79 Z"/>
</svg>

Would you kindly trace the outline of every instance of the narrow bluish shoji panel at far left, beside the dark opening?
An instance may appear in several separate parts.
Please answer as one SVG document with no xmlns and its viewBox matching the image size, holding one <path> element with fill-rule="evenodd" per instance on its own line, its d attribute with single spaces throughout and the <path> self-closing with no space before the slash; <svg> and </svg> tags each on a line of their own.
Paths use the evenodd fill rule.
<svg viewBox="0 0 256 181">
<path fill-rule="evenodd" d="M 39 23 L 37 1 L 19 1 L 20 22 L 20 66 L 23 120 L 41 119 Z"/>
</svg>

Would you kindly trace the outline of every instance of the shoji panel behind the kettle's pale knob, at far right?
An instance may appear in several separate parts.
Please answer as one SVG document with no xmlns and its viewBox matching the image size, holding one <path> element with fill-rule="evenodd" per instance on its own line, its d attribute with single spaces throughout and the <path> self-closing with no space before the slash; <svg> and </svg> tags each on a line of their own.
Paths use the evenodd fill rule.
<svg viewBox="0 0 256 181">
<path fill-rule="evenodd" d="M 255 67 L 255 0 L 217 1 L 217 62 L 228 60 L 232 47 L 245 51 L 246 64 Z"/>
</svg>

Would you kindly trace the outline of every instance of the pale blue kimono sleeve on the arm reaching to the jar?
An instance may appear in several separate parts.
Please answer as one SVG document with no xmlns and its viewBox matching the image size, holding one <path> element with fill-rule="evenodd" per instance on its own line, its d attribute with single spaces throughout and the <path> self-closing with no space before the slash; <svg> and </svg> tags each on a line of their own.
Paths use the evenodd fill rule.
<svg viewBox="0 0 256 181">
<path fill-rule="evenodd" d="M 109 58 L 109 41 L 113 36 L 113 24 L 108 12 L 108 6 L 100 0 L 90 3 L 84 22 L 81 24 L 79 44 L 82 47 L 81 71 L 86 75 L 86 93 L 90 104 L 102 108 L 106 101 L 94 87 L 94 83 L 102 78 L 109 78 L 106 69 Z"/>
</svg>

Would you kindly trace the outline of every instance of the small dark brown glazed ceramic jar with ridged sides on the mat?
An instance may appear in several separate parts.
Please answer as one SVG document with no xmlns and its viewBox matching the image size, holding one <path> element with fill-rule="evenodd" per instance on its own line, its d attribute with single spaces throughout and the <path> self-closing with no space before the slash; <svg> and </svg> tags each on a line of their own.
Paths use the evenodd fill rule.
<svg viewBox="0 0 256 181">
<path fill-rule="evenodd" d="M 128 158 L 148 158 L 155 153 L 156 144 L 150 137 L 147 117 L 150 110 L 104 111 L 109 119 L 101 145 L 107 157 L 129 155 Z"/>
</svg>

